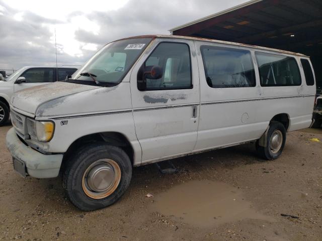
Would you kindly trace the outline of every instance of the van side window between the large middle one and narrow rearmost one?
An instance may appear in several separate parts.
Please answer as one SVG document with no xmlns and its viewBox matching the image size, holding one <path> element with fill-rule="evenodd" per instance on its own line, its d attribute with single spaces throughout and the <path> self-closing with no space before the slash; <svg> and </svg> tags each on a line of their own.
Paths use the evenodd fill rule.
<svg viewBox="0 0 322 241">
<path fill-rule="evenodd" d="M 293 57 L 256 52 L 261 86 L 301 85 L 301 75 Z"/>
</svg>

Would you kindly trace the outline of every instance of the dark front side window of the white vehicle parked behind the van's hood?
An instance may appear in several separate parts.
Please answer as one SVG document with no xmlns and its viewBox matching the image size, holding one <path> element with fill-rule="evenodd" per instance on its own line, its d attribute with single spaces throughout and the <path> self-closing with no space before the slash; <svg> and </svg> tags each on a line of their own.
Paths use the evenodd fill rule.
<svg viewBox="0 0 322 241">
<path fill-rule="evenodd" d="M 54 81 L 52 68 L 35 68 L 26 70 L 21 76 L 26 78 L 26 83 L 43 83 Z"/>
</svg>

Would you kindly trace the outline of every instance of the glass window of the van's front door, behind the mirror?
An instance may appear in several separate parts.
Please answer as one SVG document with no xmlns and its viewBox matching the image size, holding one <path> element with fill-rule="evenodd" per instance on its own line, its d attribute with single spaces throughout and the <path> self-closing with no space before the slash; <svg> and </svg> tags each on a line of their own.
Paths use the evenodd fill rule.
<svg viewBox="0 0 322 241">
<path fill-rule="evenodd" d="M 189 47 L 181 43 L 160 43 L 144 65 L 159 66 L 163 75 L 159 79 L 146 78 L 146 90 L 192 88 Z"/>
</svg>

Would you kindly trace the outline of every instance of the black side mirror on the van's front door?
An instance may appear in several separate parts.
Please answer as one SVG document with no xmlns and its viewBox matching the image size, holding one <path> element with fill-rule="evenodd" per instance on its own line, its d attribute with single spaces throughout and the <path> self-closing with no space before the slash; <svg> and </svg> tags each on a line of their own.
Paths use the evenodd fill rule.
<svg viewBox="0 0 322 241">
<path fill-rule="evenodd" d="M 163 76 L 163 69 L 160 66 L 141 67 L 137 74 L 137 87 L 140 91 L 146 89 L 146 79 L 159 79 Z"/>
</svg>

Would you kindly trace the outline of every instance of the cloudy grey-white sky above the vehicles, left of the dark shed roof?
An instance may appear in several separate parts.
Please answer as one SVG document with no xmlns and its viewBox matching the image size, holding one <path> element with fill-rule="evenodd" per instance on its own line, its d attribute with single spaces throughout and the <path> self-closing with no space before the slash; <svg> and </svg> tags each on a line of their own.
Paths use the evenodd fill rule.
<svg viewBox="0 0 322 241">
<path fill-rule="evenodd" d="M 0 0 L 0 69 L 83 65 L 106 43 L 169 29 L 247 0 Z M 10 72 L 10 71 L 8 71 Z"/>
</svg>

